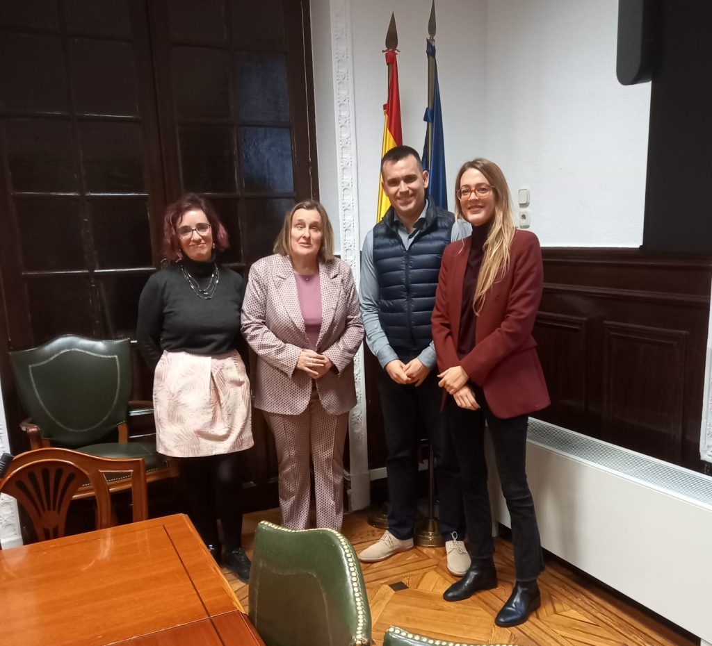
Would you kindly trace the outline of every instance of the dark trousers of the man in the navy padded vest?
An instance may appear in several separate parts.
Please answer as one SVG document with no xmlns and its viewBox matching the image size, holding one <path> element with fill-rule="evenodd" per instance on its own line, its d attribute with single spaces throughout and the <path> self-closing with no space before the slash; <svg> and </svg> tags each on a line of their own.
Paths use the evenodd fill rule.
<svg viewBox="0 0 712 646">
<path fill-rule="evenodd" d="M 397 539 L 413 536 L 417 512 L 418 448 L 429 437 L 433 447 L 439 499 L 440 531 L 446 540 L 456 531 L 465 534 L 460 473 L 444 418 L 440 413 L 442 391 L 436 371 L 420 386 L 395 383 L 379 373 L 378 392 L 383 411 L 388 472 L 388 530 Z"/>
</svg>

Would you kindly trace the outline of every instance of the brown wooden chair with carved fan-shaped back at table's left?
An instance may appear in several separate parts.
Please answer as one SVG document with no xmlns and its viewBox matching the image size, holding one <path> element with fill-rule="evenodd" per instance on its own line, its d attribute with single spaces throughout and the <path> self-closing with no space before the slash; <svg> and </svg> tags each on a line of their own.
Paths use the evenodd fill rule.
<svg viewBox="0 0 712 646">
<path fill-rule="evenodd" d="M 69 504 L 82 489 L 96 498 L 96 529 L 112 526 L 108 478 L 130 482 L 133 521 L 148 517 L 146 464 L 142 457 L 96 457 L 60 448 L 41 448 L 16 456 L 0 480 L 0 494 L 17 500 L 32 521 L 38 541 L 64 536 Z M 0 549 L 1 546 L 0 546 Z"/>
</svg>

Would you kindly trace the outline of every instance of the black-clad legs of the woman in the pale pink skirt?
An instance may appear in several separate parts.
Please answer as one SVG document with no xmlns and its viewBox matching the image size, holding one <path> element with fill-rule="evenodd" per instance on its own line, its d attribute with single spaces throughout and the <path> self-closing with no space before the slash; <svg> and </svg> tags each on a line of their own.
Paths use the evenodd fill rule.
<svg viewBox="0 0 712 646">
<path fill-rule="evenodd" d="M 184 457 L 181 477 L 188 499 L 188 515 L 207 545 L 219 544 L 217 520 L 225 549 L 242 545 L 242 482 L 238 453 Z"/>
</svg>

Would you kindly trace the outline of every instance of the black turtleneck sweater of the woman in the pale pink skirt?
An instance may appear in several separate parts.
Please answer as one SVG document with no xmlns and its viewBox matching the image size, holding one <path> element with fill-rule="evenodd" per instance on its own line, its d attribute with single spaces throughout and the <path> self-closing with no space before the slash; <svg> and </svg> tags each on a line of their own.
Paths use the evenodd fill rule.
<svg viewBox="0 0 712 646">
<path fill-rule="evenodd" d="M 199 263 L 184 258 L 181 262 L 200 287 L 208 286 L 214 260 Z M 152 370 L 164 350 L 210 355 L 235 349 L 245 282 L 236 272 L 218 267 L 218 286 L 209 300 L 192 290 L 180 263 L 172 263 L 148 279 L 138 305 L 136 338 Z"/>
</svg>

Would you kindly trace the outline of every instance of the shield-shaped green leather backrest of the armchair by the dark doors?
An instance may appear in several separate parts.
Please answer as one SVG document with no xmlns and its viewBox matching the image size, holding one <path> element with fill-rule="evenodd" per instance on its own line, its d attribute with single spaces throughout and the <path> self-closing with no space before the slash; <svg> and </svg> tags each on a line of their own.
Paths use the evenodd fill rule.
<svg viewBox="0 0 712 646">
<path fill-rule="evenodd" d="M 115 441 L 131 394 L 128 339 L 68 334 L 10 356 L 23 408 L 43 438 L 64 448 Z"/>
</svg>

